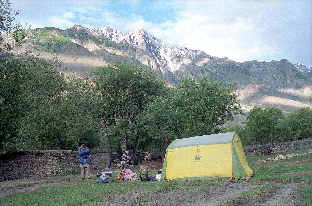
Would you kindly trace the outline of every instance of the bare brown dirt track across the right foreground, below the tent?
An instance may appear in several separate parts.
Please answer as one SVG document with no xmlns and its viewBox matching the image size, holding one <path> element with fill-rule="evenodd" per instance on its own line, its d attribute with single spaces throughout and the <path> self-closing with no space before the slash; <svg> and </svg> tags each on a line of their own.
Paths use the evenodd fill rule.
<svg viewBox="0 0 312 206">
<path fill-rule="evenodd" d="M 267 180 L 256 180 L 256 182 L 267 182 Z M 164 189 L 152 194 L 144 190 L 136 190 L 128 194 L 116 194 L 113 197 L 105 198 L 97 206 L 122 206 L 122 205 L 170 205 L 170 206 L 301 206 L 306 205 L 305 198 L 301 192 L 312 188 L 303 179 L 294 179 L 291 182 L 283 182 L 280 179 L 272 179 L 276 188 L 270 188 L 259 195 L 247 198 L 236 199 L 241 194 L 255 191 L 256 186 L 252 182 L 227 182 L 223 186 L 209 187 L 206 190 L 183 190 Z"/>
</svg>

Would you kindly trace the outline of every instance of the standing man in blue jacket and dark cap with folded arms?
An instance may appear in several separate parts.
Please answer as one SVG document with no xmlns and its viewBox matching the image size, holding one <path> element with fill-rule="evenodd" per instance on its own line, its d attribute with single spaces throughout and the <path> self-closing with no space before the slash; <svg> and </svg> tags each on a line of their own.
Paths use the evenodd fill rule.
<svg viewBox="0 0 312 206">
<path fill-rule="evenodd" d="M 79 154 L 79 164 L 80 164 L 80 172 L 81 172 L 81 180 L 85 179 L 85 174 L 87 175 L 88 179 L 91 179 L 91 171 L 89 167 L 90 158 L 89 153 L 90 150 L 87 146 L 85 146 L 87 142 L 83 140 L 81 142 L 81 147 L 78 148 Z"/>
</svg>

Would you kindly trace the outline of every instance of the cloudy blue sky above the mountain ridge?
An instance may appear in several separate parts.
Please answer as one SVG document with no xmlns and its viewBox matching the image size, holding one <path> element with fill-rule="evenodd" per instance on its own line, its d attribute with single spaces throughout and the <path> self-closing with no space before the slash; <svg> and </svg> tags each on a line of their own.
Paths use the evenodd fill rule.
<svg viewBox="0 0 312 206">
<path fill-rule="evenodd" d="M 168 44 L 212 56 L 312 66 L 310 0 L 10 2 L 31 28 L 109 26 L 123 34 L 144 28 Z"/>
</svg>

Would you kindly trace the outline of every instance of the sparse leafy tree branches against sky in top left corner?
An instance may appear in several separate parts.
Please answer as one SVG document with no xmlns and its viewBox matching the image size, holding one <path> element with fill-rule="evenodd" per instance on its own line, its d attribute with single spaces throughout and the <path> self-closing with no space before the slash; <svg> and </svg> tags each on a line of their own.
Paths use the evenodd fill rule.
<svg viewBox="0 0 312 206">
<path fill-rule="evenodd" d="M 19 42 L 26 38 L 24 28 L 28 25 L 26 22 L 25 27 L 23 27 L 20 21 L 15 18 L 18 12 L 11 14 L 10 5 L 11 3 L 8 0 L 0 0 L 0 35 L 7 34 L 12 37 L 13 41 Z M 10 43 L 4 42 L 3 37 L 0 37 L 0 51 L 10 49 Z"/>
</svg>

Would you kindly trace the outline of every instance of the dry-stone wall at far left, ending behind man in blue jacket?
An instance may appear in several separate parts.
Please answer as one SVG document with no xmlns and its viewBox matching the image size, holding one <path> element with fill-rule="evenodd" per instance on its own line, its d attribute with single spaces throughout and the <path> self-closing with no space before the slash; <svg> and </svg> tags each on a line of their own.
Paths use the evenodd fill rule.
<svg viewBox="0 0 312 206">
<path fill-rule="evenodd" d="M 79 171 L 78 152 L 30 150 L 0 155 L 0 182 Z"/>
</svg>

